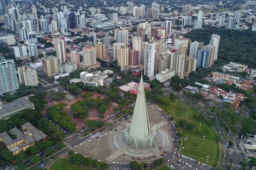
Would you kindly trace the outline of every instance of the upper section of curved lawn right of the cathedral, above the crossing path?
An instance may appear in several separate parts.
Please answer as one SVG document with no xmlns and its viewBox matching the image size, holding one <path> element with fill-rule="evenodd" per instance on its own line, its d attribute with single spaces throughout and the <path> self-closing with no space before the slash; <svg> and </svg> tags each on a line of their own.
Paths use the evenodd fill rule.
<svg viewBox="0 0 256 170">
<path fill-rule="evenodd" d="M 196 124 L 196 128 L 191 130 L 190 132 L 196 135 L 199 135 L 201 137 L 205 136 L 205 138 L 209 140 L 216 141 L 216 134 L 213 130 L 213 127 L 207 126 L 204 122 L 204 120 L 195 120 L 193 118 L 193 115 L 199 115 L 199 112 L 197 112 L 195 109 L 191 108 L 187 104 L 181 102 L 180 100 L 177 100 L 177 104 L 175 106 L 175 101 L 172 101 L 173 103 L 170 103 L 168 105 L 160 105 L 161 108 L 163 108 L 169 115 L 171 115 L 174 120 L 179 123 L 180 119 L 187 120 L 187 123 L 194 123 Z M 186 108 L 187 111 L 181 111 L 180 108 Z M 188 117 L 187 117 L 188 112 Z M 201 124 L 201 129 L 200 129 Z M 200 129 L 200 130 L 199 130 Z"/>
</svg>

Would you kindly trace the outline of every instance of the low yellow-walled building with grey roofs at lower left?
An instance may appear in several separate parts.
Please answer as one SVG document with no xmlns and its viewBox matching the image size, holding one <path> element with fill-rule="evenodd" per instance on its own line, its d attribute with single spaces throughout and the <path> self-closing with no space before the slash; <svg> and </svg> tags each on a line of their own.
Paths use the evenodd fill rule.
<svg viewBox="0 0 256 170">
<path fill-rule="evenodd" d="M 12 139 L 7 132 L 0 134 L 0 142 L 3 142 L 7 149 L 10 150 L 13 155 L 19 154 L 22 150 L 27 150 L 33 146 L 36 141 L 46 140 L 46 135 L 41 130 L 35 128 L 31 123 L 26 122 L 21 125 L 21 128 L 12 128 L 8 131 L 12 135 L 16 135 L 16 139 Z"/>
</svg>

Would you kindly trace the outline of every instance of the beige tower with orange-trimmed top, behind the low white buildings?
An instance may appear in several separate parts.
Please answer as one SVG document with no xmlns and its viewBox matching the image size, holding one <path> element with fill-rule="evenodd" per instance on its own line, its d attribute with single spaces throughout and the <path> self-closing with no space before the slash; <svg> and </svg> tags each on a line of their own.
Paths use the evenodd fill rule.
<svg viewBox="0 0 256 170">
<path fill-rule="evenodd" d="M 83 64 L 91 66 L 96 64 L 96 48 L 93 46 L 83 47 Z"/>
</svg>

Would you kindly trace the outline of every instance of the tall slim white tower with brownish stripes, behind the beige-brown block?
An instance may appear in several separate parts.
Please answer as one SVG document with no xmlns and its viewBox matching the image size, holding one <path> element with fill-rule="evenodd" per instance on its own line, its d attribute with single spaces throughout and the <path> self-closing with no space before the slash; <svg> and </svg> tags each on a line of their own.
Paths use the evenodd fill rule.
<svg viewBox="0 0 256 170">
<path fill-rule="evenodd" d="M 66 62 L 66 43 L 64 37 L 53 38 L 53 48 L 56 51 L 57 58 L 60 64 Z"/>
</svg>

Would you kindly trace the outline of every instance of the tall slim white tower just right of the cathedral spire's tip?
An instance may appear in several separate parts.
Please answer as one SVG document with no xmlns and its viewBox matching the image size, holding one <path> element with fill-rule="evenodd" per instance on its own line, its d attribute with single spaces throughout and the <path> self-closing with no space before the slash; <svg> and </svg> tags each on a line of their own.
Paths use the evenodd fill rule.
<svg viewBox="0 0 256 170">
<path fill-rule="evenodd" d="M 149 78 L 154 75 L 155 55 L 156 55 L 156 43 L 152 41 L 146 42 L 145 43 L 144 75 L 147 75 Z"/>
</svg>

